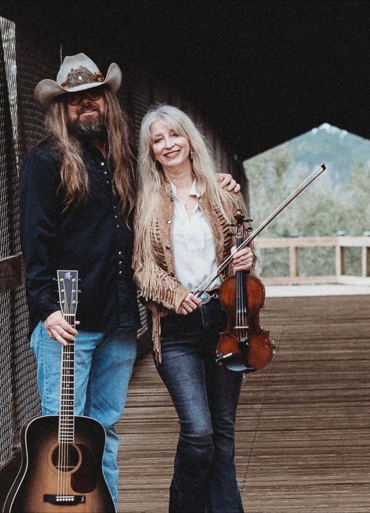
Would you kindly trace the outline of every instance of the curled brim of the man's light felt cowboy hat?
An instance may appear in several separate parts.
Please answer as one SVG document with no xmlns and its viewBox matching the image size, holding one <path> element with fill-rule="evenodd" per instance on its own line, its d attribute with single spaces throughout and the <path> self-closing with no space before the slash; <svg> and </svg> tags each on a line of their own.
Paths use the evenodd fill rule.
<svg viewBox="0 0 370 513">
<path fill-rule="evenodd" d="M 86 89 L 92 89 L 93 87 L 99 86 L 105 86 L 113 93 L 116 93 L 121 86 L 121 82 L 121 70 L 116 63 L 112 63 L 108 68 L 104 82 L 90 82 L 89 84 L 81 84 L 80 86 L 65 89 L 54 80 L 45 78 L 45 80 L 41 80 L 41 82 L 39 82 L 35 87 L 35 101 L 41 105 L 41 107 L 47 109 L 55 101 L 55 98 L 62 94 L 85 91 Z"/>
</svg>

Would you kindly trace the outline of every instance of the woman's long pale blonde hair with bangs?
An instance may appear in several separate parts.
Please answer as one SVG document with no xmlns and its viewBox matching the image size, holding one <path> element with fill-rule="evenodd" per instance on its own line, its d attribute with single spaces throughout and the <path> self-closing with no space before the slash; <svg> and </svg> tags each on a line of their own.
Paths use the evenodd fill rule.
<svg viewBox="0 0 370 513">
<path fill-rule="evenodd" d="M 138 199 L 136 207 L 136 240 L 142 254 L 151 253 L 151 231 L 157 219 L 160 192 L 164 185 L 161 165 L 154 161 L 153 140 L 150 129 L 156 121 L 163 121 L 186 137 L 192 150 L 192 168 L 198 185 L 206 187 L 211 204 L 227 219 L 225 206 L 237 203 L 232 195 L 220 188 L 216 179 L 216 166 L 207 140 L 191 118 L 176 107 L 158 105 L 151 108 L 141 122 L 138 157 Z"/>
</svg>

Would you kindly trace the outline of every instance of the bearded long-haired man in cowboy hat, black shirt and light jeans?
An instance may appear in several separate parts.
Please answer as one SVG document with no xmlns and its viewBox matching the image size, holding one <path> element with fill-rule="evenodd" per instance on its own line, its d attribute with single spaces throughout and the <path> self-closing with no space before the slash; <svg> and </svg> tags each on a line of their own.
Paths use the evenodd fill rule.
<svg viewBox="0 0 370 513">
<path fill-rule="evenodd" d="M 59 411 L 61 345 L 76 337 L 75 415 L 105 427 L 103 471 L 116 507 L 114 426 L 123 412 L 140 326 L 131 269 L 134 173 L 126 116 L 115 94 L 120 85 L 117 64 L 104 78 L 83 53 L 66 57 L 56 82 L 42 80 L 35 88 L 35 100 L 47 110 L 48 135 L 26 155 L 20 175 L 21 243 L 42 414 Z M 223 176 L 222 185 L 230 179 Z M 76 269 L 81 279 L 78 334 L 56 303 L 57 269 Z"/>
</svg>

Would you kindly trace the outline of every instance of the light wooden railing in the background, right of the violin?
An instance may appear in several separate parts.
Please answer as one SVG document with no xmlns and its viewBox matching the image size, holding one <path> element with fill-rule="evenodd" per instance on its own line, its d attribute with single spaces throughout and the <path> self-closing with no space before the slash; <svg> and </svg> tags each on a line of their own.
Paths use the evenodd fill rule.
<svg viewBox="0 0 370 513">
<path fill-rule="evenodd" d="M 278 239 L 255 239 L 256 249 L 288 248 L 289 276 L 264 277 L 268 285 L 299 283 L 342 283 L 370 285 L 370 237 L 294 237 Z M 299 276 L 298 249 L 307 247 L 331 246 L 335 248 L 335 275 Z M 344 248 L 361 248 L 361 275 L 345 274 Z"/>
</svg>

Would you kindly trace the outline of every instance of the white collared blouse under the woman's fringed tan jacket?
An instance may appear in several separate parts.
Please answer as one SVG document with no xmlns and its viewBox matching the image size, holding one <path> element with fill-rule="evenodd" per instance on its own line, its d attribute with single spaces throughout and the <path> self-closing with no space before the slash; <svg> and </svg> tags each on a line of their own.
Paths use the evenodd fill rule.
<svg viewBox="0 0 370 513">
<path fill-rule="evenodd" d="M 176 276 L 184 287 L 194 290 L 217 268 L 212 230 L 198 203 L 189 217 L 172 183 L 171 192 L 175 196 L 172 237 Z M 197 199 L 200 196 L 195 180 L 189 196 L 197 196 Z M 218 277 L 210 288 L 213 290 L 220 285 Z"/>
</svg>

